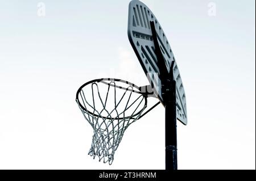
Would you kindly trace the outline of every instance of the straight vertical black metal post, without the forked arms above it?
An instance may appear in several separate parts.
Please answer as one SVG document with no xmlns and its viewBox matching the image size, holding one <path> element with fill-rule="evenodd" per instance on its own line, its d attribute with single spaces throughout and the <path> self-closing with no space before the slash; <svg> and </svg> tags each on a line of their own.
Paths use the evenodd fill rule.
<svg viewBox="0 0 256 181">
<path fill-rule="evenodd" d="M 166 89 L 166 170 L 177 170 L 176 82 L 168 80 Z"/>
</svg>

